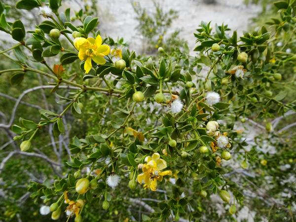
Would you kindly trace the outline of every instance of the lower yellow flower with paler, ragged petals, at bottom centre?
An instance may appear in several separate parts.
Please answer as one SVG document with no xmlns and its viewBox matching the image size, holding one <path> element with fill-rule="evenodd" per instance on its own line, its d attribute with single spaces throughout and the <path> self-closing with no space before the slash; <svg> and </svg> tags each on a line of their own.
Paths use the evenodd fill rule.
<svg viewBox="0 0 296 222">
<path fill-rule="evenodd" d="M 163 176 L 171 175 L 172 171 L 162 171 L 167 167 L 167 163 L 164 159 L 160 158 L 157 152 L 153 153 L 152 157 L 146 157 L 145 161 L 147 164 L 141 163 L 138 166 L 138 168 L 142 168 L 143 173 L 139 174 L 137 179 L 140 184 L 144 182 L 152 191 L 155 191 L 157 181 L 162 181 Z"/>
</svg>

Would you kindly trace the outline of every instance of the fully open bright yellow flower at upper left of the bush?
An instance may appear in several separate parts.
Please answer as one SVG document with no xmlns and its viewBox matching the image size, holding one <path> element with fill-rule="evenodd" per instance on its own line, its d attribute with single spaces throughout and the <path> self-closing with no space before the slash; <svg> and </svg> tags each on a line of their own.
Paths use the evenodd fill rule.
<svg viewBox="0 0 296 222">
<path fill-rule="evenodd" d="M 74 39 L 74 46 L 79 51 L 78 57 L 84 60 L 84 70 L 88 74 L 91 69 L 91 60 L 98 65 L 106 63 L 105 55 L 110 53 L 109 45 L 102 45 L 102 37 L 98 35 L 96 39 L 89 37 L 77 37 Z"/>
</svg>

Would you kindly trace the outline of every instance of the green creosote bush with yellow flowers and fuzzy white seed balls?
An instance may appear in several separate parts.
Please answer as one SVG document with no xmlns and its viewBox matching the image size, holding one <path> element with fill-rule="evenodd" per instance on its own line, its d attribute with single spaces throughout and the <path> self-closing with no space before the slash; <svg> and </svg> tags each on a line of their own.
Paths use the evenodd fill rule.
<svg viewBox="0 0 296 222">
<path fill-rule="evenodd" d="M 266 27 L 238 37 L 225 24 L 201 22 L 195 56 L 172 45 L 151 57 L 130 51 L 122 38 L 103 38 L 88 10 L 19 0 L 17 9 L 39 8 L 36 16 L 44 17 L 27 30 L 0 2 L 0 30 L 18 42 L 0 52 L 13 63 L 0 74 L 11 87 L 44 78 L 40 89 L 62 107 L 47 104 L 31 118 L 23 112 L 0 123 L 18 145 L 1 153 L 1 183 L 9 184 L 15 167 L 20 185 L 23 169 L 45 175 L 21 186 L 26 204 L 7 189 L 0 220 L 235 221 L 246 206 L 257 221 L 295 221 L 295 134 L 291 124 L 277 127 L 296 110 L 296 47 L 285 40 L 295 37 L 295 1 L 280 2 L 280 18 Z M 157 10 L 156 21 L 170 25 L 175 12 L 165 18 Z M 154 28 L 143 35 L 163 35 L 150 20 L 143 21 Z M 259 127 L 251 140 L 247 122 Z M 55 140 L 52 150 L 44 144 Z M 15 155 L 26 158 L 14 166 Z"/>
</svg>

